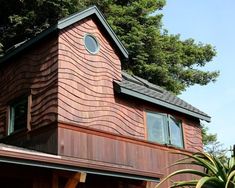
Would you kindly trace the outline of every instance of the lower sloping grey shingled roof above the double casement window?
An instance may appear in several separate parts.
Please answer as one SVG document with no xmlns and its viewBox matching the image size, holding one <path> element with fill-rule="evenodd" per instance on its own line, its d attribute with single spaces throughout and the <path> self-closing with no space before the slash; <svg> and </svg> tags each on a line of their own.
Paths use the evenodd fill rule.
<svg viewBox="0 0 235 188">
<path fill-rule="evenodd" d="M 188 104 L 171 92 L 138 76 L 131 76 L 122 72 L 122 81 L 115 81 L 114 89 L 117 93 L 136 97 L 207 122 L 211 121 L 211 117 L 206 113 Z"/>
</svg>

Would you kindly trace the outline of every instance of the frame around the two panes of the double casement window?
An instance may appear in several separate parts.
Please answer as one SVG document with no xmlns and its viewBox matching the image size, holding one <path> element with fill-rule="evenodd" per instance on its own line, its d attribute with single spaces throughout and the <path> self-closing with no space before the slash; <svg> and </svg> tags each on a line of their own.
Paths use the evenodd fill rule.
<svg viewBox="0 0 235 188">
<path fill-rule="evenodd" d="M 149 136 L 148 136 L 148 131 L 149 131 L 149 128 L 148 128 L 148 113 L 150 113 L 150 114 L 158 114 L 158 115 L 166 117 L 166 121 L 164 121 L 164 123 L 165 123 L 164 126 L 165 127 L 163 129 L 165 131 L 164 135 L 166 137 L 165 138 L 165 143 L 149 140 Z M 171 128 L 170 128 L 170 118 L 172 118 L 174 121 L 179 123 L 181 145 L 177 145 L 177 144 L 172 143 L 172 133 L 171 133 Z M 153 143 L 157 143 L 157 144 L 161 144 L 161 145 L 173 146 L 173 147 L 181 148 L 181 149 L 185 148 L 185 144 L 184 144 L 184 131 L 183 131 L 182 120 L 179 119 L 179 118 L 176 118 L 175 116 L 173 116 L 171 114 L 146 110 L 145 111 L 145 129 L 146 129 L 146 140 L 149 141 L 149 142 L 153 142 Z"/>
</svg>

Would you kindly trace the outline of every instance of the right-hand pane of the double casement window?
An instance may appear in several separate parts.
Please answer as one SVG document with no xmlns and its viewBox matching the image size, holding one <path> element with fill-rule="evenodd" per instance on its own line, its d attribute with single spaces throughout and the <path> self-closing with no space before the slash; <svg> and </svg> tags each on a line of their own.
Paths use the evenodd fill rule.
<svg viewBox="0 0 235 188">
<path fill-rule="evenodd" d="M 176 119 L 174 119 L 173 117 L 169 117 L 169 129 L 170 129 L 171 144 L 182 148 L 183 137 L 182 137 L 181 123 Z"/>
</svg>

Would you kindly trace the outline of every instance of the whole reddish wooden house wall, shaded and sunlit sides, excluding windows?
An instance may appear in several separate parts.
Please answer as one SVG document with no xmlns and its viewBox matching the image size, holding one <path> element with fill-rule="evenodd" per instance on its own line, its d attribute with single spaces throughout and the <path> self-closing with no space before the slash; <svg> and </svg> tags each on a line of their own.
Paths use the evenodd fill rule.
<svg viewBox="0 0 235 188">
<path fill-rule="evenodd" d="M 86 33 L 97 37 L 99 53 L 91 55 L 85 49 Z M 44 41 L 4 65 L 0 69 L 0 135 L 6 135 L 10 102 L 31 94 L 30 127 L 34 133 L 13 137 L 11 143 L 76 157 L 101 169 L 150 177 L 166 175 L 166 167 L 180 157 L 170 152 L 182 150 L 146 141 L 145 111 L 181 119 L 185 150 L 190 152 L 202 149 L 199 122 L 117 96 L 113 81 L 121 80 L 121 63 L 104 36 L 94 20 L 87 18 L 61 31 L 58 41 Z M 36 130 L 53 123 L 57 126 L 57 121 L 58 128 Z"/>
</svg>

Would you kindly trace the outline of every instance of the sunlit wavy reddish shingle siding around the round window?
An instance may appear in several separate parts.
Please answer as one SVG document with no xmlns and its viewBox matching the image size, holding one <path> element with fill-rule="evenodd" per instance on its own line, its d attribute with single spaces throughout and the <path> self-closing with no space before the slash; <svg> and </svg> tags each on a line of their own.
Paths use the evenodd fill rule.
<svg viewBox="0 0 235 188">
<path fill-rule="evenodd" d="M 100 43 L 96 55 L 83 45 L 86 33 Z M 91 18 L 60 33 L 58 120 L 143 138 L 142 109 L 114 97 L 113 80 L 121 80 L 121 63 L 111 46 Z"/>
</svg>

